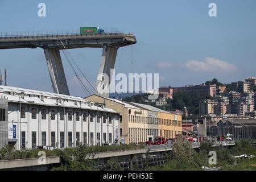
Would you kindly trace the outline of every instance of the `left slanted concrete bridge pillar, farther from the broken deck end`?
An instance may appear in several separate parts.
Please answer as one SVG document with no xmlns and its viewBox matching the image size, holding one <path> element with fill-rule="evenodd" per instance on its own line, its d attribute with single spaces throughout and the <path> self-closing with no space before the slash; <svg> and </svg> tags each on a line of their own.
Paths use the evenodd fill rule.
<svg viewBox="0 0 256 182">
<path fill-rule="evenodd" d="M 69 95 L 68 84 L 65 77 L 59 49 L 44 48 L 46 63 L 52 81 L 53 92 Z"/>
</svg>

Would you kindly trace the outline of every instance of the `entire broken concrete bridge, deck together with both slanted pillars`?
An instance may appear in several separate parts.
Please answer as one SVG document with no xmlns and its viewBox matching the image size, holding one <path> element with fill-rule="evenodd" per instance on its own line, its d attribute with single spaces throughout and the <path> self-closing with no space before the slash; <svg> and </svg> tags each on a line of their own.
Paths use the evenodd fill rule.
<svg viewBox="0 0 256 182">
<path fill-rule="evenodd" d="M 136 44 L 137 40 L 133 34 L 122 32 L 106 32 L 101 34 L 32 34 L 32 35 L 3 35 L 0 34 L 0 49 L 14 48 L 43 48 L 46 56 L 47 67 L 51 77 L 53 92 L 69 95 L 69 88 L 60 50 L 72 48 L 102 48 L 100 69 L 98 75 L 108 75 L 108 84 L 104 79 L 97 80 L 96 88 L 102 97 L 109 97 L 108 88 L 112 78 L 111 69 L 114 68 L 118 48 Z M 101 85 L 100 87 L 98 85 Z"/>
</svg>

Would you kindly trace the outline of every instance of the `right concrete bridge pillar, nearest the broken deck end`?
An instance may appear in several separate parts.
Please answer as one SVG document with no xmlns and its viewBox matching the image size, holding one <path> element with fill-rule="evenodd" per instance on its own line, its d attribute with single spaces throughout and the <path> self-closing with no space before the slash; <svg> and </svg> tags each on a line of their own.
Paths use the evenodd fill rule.
<svg viewBox="0 0 256 182">
<path fill-rule="evenodd" d="M 97 91 L 102 97 L 109 97 L 109 92 L 110 92 L 110 82 L 112 79 L 112 72 L 111 69 L 114 69 L 115 65 L 115 59 L 117 57 L 117 51 L 118 48 L 112 47 L 112 46 L 107 46 L 105 45 L 102 50 L 102 55 L 101 55 L 101 65 L 100 69 L 98 70 L 98 76 L 97 76 Z M 106 81 L 104 82 L 102 73 L 106 76 L 108 76 L 108 88 L 106 88 Z M 97 93 L 96 93 L 97 94 Z"/>
</svg>

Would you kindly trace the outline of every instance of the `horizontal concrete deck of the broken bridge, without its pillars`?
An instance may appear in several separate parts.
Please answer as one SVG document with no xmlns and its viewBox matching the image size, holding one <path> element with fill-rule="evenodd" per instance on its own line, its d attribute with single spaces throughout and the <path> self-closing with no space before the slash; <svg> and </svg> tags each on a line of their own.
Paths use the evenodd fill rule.
<svg viewBox="0 0 256 182">
<path fill-rule="evenodd" d="M 71 49 L 96 47 L 104 45 L 115 48 L 137 43 L 133 34 L 109 33 L 96 35 L 61 34 L 61 35 L 28 35 L 28 36 L 0 36 L 0 49 L 12 48 L 53 48 Z"/>
</svg>

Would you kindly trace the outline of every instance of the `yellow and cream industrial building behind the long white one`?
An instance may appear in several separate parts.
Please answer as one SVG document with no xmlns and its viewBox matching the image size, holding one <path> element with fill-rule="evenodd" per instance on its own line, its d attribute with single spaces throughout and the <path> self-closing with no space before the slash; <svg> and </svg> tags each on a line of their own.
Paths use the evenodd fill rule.
<svg viewBox="0 0 256 182">
<path fill-rule="evenodd" d="M 156 107 L 123 102 L 97 95 L 86 97 L 86 100 L 115 110 L 120 115 L 119 140 L 121 143 L 143 143 L 150 138 L 175 138 L 182 134 L 181 115 L 171 114 Z"/>
</svg>

